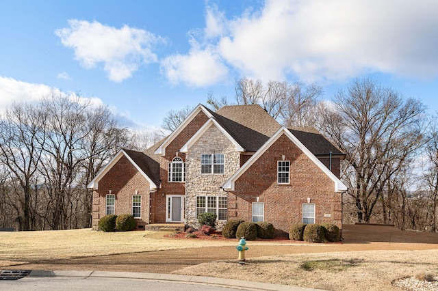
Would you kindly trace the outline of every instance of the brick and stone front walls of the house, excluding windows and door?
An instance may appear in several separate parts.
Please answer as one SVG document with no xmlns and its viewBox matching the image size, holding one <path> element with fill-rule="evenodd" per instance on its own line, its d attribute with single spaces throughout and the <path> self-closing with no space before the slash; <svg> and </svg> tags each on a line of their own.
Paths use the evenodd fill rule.
<svg viewBox="0 0 438 291">
<path fill-rule="evenodd" d="M 263 113 L 265 111 L 261 112 L 261 115 Z M 265 146 L 262 146 L 263 151 L 255 152 L 253 148 L 250 151 L 242 151 L 241 148 L 241 152 L 238 152 L 235 143 L 229 139 L 233 136 L 229 129 L 235 126 L 235 123 L 222 120 L 224 124 L 230 126 L 224 128 L 219 124 L 219 118 L 216 122 L 211 122 L 202 135 L 199 133 L 196 141 L 184 149 L 186 152 L 179 152 L 209 121 L 209 118 L 214 118 L 208 115 L 207 111 L 199 110 L 183 128 L 170 136 L 171 139 L 164 141 L 161 145 L 163 146 L 161 153 L 164 155 L 155 154 L 156 148 L 144 154 L 127 151 L 131 152 L 132 156 L 137 156 L 139 162 L 137 165 L 142 165 L 144 171 L 139 171 L 131 163 L 132 160 L 130 161 L 125 155 L 111 164 L 112 167 L 106 174 L 102 174 L 103 176 L 99 176 L 96 180 L 99 182 L 99 187 L 93 192 L 93 229 L 97 229 L 99 219 L 105 215 L 105 198 L 110 191 L 116 197 L 116 214 L 131 214 L 132 195 L 136 193 L 141 195 L 141 218 L 137 219 L 139 228 L 149 223 L 169 221 L 170 217 L 166 217 L 166 209 L 168 209 L 166 199 L 175 195 L 183 199 L 184 212 L 181 220 L 194 227 L 198 227 L 197 196 L 226 196 L 228 219 L 252 221 L 253 202 L 263 202 L 264 221 L 272 223 L 277 234 L 280 235 L 286 235 L 292 224 L 302 222 L 302 205 L 307 203 L 315 204 L 315 223 L 334 223 L 342 229 L 342 194 L 335 192 L 334 182 L 339 180 L 333 175 L 328 176 L 284 132 L 279 131 L 281 135 L 276 135 L 278 137 L 276 140 L 272 139 L 275 141 L 269 148 L 267 147 L 270 143 L 265 143 Z M 221 129 L 226 130 L 227 135 Z M 238 134 L 238 130 L 241 130 L 240 142 L 242 139 L 246 142 L 251 136 L 254 137 L 254 131 L 246 127 L 235 126 L 234 130 L 237 130 L 234 134 Z M 289 131 L 287 133 L 289 134 Z M 268 138 L 266 135 L 255 136 Z M 320 143 L 313 144 L 320 145 Z M 224 154 L 224 174 L 201 174 L 201 154 Z M 251 158 L 253 154 L 257 156 Z M 153 171 L 142 163 L 143 159 L 146 160 L 145 155 L 153 160 L 152 165 L 155 168 Z M 185 162 L 185 182 L 168 182 L 168 165 L 175 156 L 179 156 Z M 331 171 L 338 178 L 339 156 L 342 156 L 342 153 L 332 157 L 331 161 L 326 155 L 320 156 L 320 161 L 327 168 L 331 164 Z M 248 167 L 249 164 L 246 162 L 250 159 L 253 164 Z M 289 184 L 277 183 L 277 162 L 283 159 L 290 161 Z M 227 191 L 224 191 L 222 186 L 228 183 L 227 181 L 242 166 L 244 172 L 237 180 L 233 180 L 234 188 L 225 187 Z M 151 189 L 149 180 L 142 175 L 146 172 L 152 172 L 154 175 L 154 179 L 148 177 L 156 184 L 157 189 Z M 225 221 L 218 221 L 219 229 L 224 223 Z"/>
</svg>

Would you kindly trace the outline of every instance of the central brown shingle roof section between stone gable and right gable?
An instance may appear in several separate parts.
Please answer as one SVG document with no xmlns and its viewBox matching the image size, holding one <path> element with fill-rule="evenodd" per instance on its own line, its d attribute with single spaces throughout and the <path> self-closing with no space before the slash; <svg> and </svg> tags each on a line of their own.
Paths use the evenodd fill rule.
<svg viewBox="0 0 438 291">
<path fill-rule="evenodd" d="M 281 125 L 259 105 L 225 106 L 212 114 L 247 151 L 258 150 L 281 128 Z"/>
</svg>

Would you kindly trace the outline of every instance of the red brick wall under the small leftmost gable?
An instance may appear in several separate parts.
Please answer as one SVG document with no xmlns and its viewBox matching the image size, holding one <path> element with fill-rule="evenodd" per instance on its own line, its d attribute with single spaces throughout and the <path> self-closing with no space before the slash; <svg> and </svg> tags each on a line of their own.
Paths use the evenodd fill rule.
<svg viewBox="0 0 438 291">
<path fill-rule="evenodd" d="M 149 182 L 140 174 L 128 159 L 123 156 L 99 181 L 99 189 L 93 192 L 93 223 L 94 230 L 99 219 L 105 216 L 106 195 L 116 195 L 115 214 L 132 214 L 132 195 L 142 196 L 141 219 L 137 225 L 149 223 Z M 154 195 L 154 194 L 152 194 Z"/>
</svg>

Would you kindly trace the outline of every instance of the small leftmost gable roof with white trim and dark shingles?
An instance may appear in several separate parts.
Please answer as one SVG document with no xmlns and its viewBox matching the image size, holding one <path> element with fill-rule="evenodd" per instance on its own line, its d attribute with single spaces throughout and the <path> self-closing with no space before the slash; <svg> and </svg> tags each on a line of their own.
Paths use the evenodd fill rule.
<svg viewBox="0 0 438 291">
<path fill-rule="evenodd" d="M 129 162 L 132 163 L 134 167 L 146 178 L 146 180 L 149 182 L 149 190 L 155 191 L 157 189 L 157 185 L 159 185 L 159 181 L 157 180 L 157 177 L 153 175 L 153 171 L 151 171 L 151 167 L 155 167 L 154 161 L 149 156 L 146 156 L 146 154 L 142 152 L 136 152 L 133 150 L 120 150 L 114 158 L 110 161 L 110 163 L 107 163 L 101 171 L 94 177 L 94 179 L 88 184 L 88 188 L 90 189 L 99 189 L 99 181 L 107 174 L 108 171 L 122 158 L 123 156 L 126 156 Z M 159 168 L 159 165 L 158 165 Z"/>
</svg>

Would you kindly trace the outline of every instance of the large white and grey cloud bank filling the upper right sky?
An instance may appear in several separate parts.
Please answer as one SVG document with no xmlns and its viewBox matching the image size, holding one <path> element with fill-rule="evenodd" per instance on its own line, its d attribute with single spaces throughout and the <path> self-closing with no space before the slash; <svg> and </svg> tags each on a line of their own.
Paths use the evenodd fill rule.
<svg viewBox="0 0 438 291">
<path fill-rule="evenodd" d="M 369 72 L 418 79 L 438 76 L 438 1 L 266 0 L 227 19 L 207 7 L 203 36 L 188 55 L 167 58 L 171 81 L 204 85 L 226 72 L 268 81 L 342 81 Z M 201 48 L 200 48 L 201 47 Z M 215 61 L 200 64 L 201 56 Z M 216 66 L 216 68 L 215 68 Z M 185 68 L 196 68 L 187 74 Z M 181 77 L 180 75 L 184 76 Z"/>
</svg>

